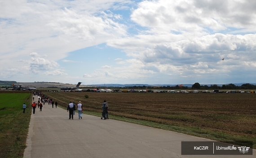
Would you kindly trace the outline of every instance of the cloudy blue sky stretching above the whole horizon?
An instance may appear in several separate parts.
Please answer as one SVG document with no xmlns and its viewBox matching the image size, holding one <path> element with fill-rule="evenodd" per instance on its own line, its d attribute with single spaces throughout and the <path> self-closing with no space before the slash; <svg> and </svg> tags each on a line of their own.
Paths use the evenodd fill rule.
<svg viewBox="0 0 256 158">
<path fill-rule="evenodd" d="M 256 0 L 0 0 L 0 80 L 256 83 Z"/>
</svg>

